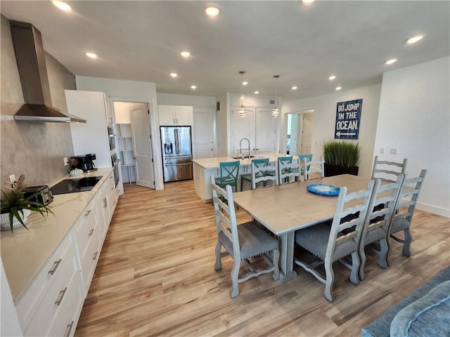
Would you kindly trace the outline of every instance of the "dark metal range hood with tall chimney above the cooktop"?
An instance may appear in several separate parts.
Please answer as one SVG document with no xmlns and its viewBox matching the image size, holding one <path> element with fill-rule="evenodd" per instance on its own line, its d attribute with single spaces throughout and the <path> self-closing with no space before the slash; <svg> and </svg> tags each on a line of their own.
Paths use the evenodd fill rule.
<svg viewBox="0 0 450 337">
<path fill-rule="evenodd" d="M 25 105 L 15 113 L 18 121 L 60 121 L 86 123 L 51 107 L 49 77 L 41 32 L 31 23 L 11 20 L 15 58 L 19 69 Z"/>
</svg>

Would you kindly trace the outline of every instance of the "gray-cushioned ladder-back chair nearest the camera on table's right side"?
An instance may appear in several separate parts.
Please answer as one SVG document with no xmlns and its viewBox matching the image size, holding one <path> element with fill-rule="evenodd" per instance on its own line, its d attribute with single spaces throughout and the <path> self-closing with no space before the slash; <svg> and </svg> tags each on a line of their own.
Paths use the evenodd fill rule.
<svg viewBox="0 0 450 337">
<path fill-rule="evenodd" d="M 339 260 L 351 270 L 350 281 L 353 284 L 359 283 L 359 240 L 364 230 L 367 210 L 371 206 L 373 185 L 374 181 L 369 180 L 366 190 L 350 194 L 347 194 L 347 187 L 341 187 L 331 226 L 320 223 L 295 232 L 295 244 L 317 258 L 310 263 L 309 258 L 300 259 L 300 254 L 297 254 L 295 264 L 325 284 L 324 295 L 330 302 L 333 302 L 335 261 Z M 350 262 L 345 259 L 347 256 L 351 256 Z M 325 268 L 325 276 L 316 269 L 320 265 Z"/>
</svg>

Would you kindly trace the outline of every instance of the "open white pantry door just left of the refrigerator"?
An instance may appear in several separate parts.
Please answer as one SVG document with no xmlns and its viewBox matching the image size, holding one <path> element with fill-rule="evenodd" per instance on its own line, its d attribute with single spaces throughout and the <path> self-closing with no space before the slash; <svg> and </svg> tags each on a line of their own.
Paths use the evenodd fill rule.
<svg viewBox="0 0 450 337">
<path fill-rule="evenodd" d="M 136 185 L 155 188 L 148 105 L 144 103 L 133 105 L 130 107 L 130 117 Z"/>
</svg>

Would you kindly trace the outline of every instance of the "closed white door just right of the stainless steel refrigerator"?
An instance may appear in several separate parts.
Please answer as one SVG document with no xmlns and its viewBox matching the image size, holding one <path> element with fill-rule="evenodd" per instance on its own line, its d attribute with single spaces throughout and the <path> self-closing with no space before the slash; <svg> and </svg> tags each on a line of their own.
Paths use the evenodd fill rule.
<svg viewBox="0 0 450 337">
<path fill-rule="evenodd" d="M 194 107 L 193 159 L 214 157 L 214 109 Z"/>
</svg>

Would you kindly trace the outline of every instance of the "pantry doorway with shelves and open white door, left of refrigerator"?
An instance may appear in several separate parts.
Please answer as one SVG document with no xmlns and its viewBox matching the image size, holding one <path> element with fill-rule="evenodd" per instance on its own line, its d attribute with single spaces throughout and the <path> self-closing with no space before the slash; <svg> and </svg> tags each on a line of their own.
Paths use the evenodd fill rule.
<svg viewBox="0 0 450 337">
<path fill-rule="evenodd" d="M 123 183 L 155 188 L 148 103 L 114 102 Z"/>
</svg>

